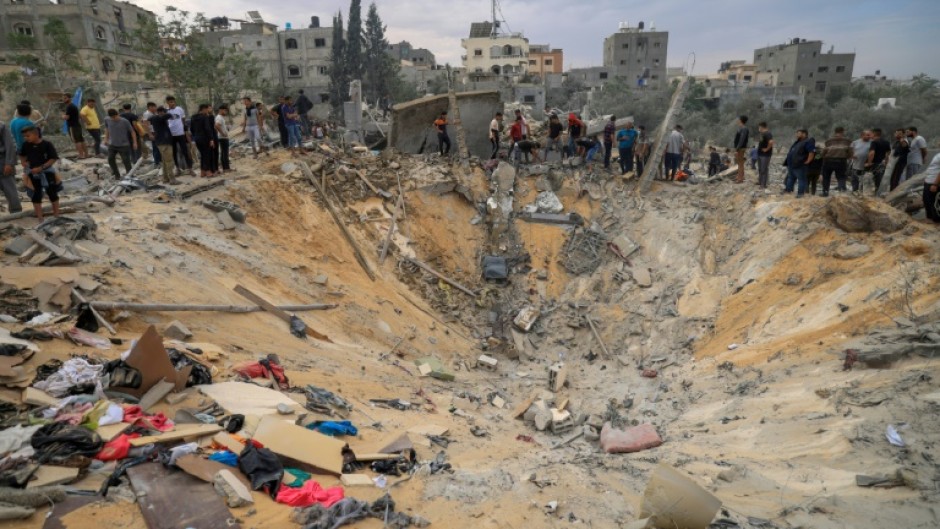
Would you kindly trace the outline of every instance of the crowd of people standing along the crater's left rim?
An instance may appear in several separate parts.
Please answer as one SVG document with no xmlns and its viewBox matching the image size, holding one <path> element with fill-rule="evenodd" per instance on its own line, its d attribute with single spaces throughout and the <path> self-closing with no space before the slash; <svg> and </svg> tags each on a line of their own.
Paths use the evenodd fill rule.
<svg viewBox="0 0 940 529">
<path fill-rule="evenodd" d="M 300 154 L 305 139 L 323 139 L 329 134 L 326 123 L 310 120 L 308 113 L 313 103 L 303 90 L 296 100 L 283 96 L 270 108 L 252 102 L 249 97 L 242 103 L 241 130 L 255 156 L 264 154 L 271 144 L 266 134 L 269 121 L 271 128 L 277 130 L 280 144 L 295 155 Z M 187 115 L 175 97 L 167 96 L 163 105 L 148 102 L 140 115 L 130 103 L 121 105 L 120 110 L 108 108 L 99 114 L 94 98 L 78 102 L 63 94 L 60 108 L 63 131 L 74 144 L 77 157 L 106 157 L 115 179 L 127 175 L 141 158 L 159 167 L 163 182 L 169 185 L 179 184 L 176 177 L 183 174 L 197 176 L 197 161 L 200 177 L 211 178 L 231 171 L 230 137 L 237 126 L 232 122 L 228 105 L 213 108 L 203 103 L 196 113 Z M 55 146 L 43 139 L 45 124 L 46 117 L 25 100 L 17 105 L 9 125 L 0 121 L 3 164 L 0 190 L 11 213 L 22 211 L 15 179 L 16 166 L 20 165 L 36 216 L 42 219 L 44 196 L 49 197 L 53 214 L 58 214 L 62 183 L 54 166 L 59 155 Z M 86 141 L 86 133 L 90 141 Z"/>
</svg>

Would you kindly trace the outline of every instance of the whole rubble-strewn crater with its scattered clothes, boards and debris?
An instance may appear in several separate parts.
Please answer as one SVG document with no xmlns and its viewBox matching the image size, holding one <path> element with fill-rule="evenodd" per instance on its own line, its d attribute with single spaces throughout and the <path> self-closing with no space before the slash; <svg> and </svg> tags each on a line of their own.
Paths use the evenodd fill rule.
<svg viewBox="0 0 940 529">
<path fill-rule="evenodd" d="M 913 362 L 940 311 L 911 289 L 940 256 L 898 211 L 332 140 L 234 153 L 181 186 L 65 164 L 83 211 L 3 221 L 0 519 L 829 529 L 886 488 L 930 516 L 940 400 Z M 853 286 L 900 254 L 907 291 Z"/>
</svg>

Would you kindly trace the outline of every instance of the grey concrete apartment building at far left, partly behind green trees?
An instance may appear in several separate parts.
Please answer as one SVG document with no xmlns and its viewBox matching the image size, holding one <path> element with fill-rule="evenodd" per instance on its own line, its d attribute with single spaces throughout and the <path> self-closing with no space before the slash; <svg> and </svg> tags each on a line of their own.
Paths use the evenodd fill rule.
<svg viewBox="0 0 940 529">
<path fill-rule="evenodd" d="M 82 66 L 88 69 L 83 77 L 94 81 L 93 88 L 102 93 L 145 90 L 154 81 L 145 77 L 147 59 L 134 50 L 131 38 L 142 22 L 155 17 L 151 11 L 114 0 L 3 0 L 0 70 L 17 68 L 12 59 L 16 54 L 35 54 L 45 60 L 42 51 L 48 43 L 43 26 L 50 18 L 58 18 L 70 32 Z M 35 39 L 32 49 L 15 48 L 9 38 L 14 34 Z M 51 84 L 47 88 L 58 89 Z M 75 86 L 62 89 L 71 91 Z"/>
</svg>

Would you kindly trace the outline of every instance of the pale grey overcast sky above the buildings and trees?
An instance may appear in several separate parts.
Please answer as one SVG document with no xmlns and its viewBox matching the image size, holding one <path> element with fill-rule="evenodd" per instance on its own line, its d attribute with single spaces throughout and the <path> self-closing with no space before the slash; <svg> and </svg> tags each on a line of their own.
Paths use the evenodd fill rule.
<svg viewBox="0 0 940 529">
<path fill-rule="evenodd" d="M 370 0 L 363 0 L 363 19 Z M 135 3 L 157 14 L 165 0 Z M 490 19 L 489 0 L 376 0 L 388 26 L 389 41 L 408 40 L 428 48 L 439 63 L 460 64 L 471 22 Z M 722 61 L 753 59 L 753 50 L 781 44 L 795 37 L 822 40 L 824 50 L 855 52 L 853 75 L 907 78 L 927 73 L 940 78 L 940 47 L 935 35 L 940 22 L 940 0 L 500 0 L 502 18 L 514 32 L 523 32 L 533 44 L 551 44 L 565 50 L 565 69 L 599 66 L 604 37 L 618 23 L 635 26 L 640 20 L 669 32 L 669 66 L 682 66 L 690 52 L 696 56 L 696 74 L 713 72 Z M 348 0 L 174 0 L 180 9 L 208 17 L 245 18 L 258 10 L 269 22 L 306 27 L 317 15 L 331 25 L 332 15 Z M 261 7 L 264 5 L 264 7 Z M 934 51 L 931 51 L 934 50 Z"/>
</svg>

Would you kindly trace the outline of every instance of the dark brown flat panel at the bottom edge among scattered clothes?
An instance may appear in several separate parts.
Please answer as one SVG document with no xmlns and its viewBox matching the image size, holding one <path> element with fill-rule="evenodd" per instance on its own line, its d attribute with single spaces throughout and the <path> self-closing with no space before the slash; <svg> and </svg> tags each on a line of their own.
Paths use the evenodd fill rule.
<svg viewBox="0 0 940 529">
<path fill-rule="evenodd" d="M 159 463 L 127 469 L 149 529 L 241 529 L 215 489 Z"/>
</svg>

